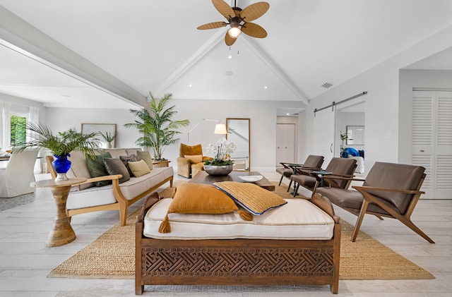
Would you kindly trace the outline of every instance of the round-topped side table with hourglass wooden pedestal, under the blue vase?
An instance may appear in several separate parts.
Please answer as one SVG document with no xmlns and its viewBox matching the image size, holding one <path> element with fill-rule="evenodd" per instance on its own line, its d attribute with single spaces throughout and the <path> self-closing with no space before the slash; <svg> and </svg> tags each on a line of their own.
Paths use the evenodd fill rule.
<svg viewBox="0 0 452 297">
<path fill-rule="evenodd" d="M 83 183 L 86 178 L 69 178 L 68 181 L 54 181 L 46 179 L 44 181 L 35 181 L 30 186 L 37 188 L 50 188 L 57 204 L 57 215 L 54 219 L 52 230 L 49 231 L 45 246 L 52 248 L 54 246 L 63 246 L 76 239 L 76 233 L 73 231 L 71 222 L 66 214 L 66 200 L 68 199 L 71 186 Z"/>
</svg>

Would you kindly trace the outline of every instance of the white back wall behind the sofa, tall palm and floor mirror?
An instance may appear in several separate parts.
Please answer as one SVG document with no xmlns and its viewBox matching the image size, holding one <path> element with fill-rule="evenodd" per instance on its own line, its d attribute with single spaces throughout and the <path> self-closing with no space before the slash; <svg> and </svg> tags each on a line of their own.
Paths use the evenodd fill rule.
<svg viewBox="0 0 452 297">
<path fill-rule="evenodd" d="M 221 135 L 213 134 L 216 122 L 202 121 L 203 119 L 217 119 L 226 123 L 226 118 L 249 118 L 251 140 L 251 170 L 275 170 L 275 139 L 276 139 L 276 110 L 278 107 L 301 107 L 301 102 L 280 101 L 238 101 L 238 100 L 196 100 L 189 101 L 172 99 L 169 105 L 175 105 L 177 114 L 174 119 L 189 119 L 191 125 L 181 128 L 179 138 L 187 143 L 187 132 L 196 123 L 201 123 L 190 133 L 190 145 L 201 143 L 204 154 L 208 143 L 215 143 Z M 136 146 L 135 140 L 139 137 L 133 128 L 125 128 L 124 123 L 132 123 L 133 115 L 124 109 L 60 109 L 49 108 L 47 111 L 47 124 L 52 131 L 65 131 L 69 128 L 81 129 L 81 123 L 116 123 L 117 147 Z M 172 161 L 176 167 L 179 157 L 179 143 L 167 147 L 163 157 Z"/>
</svg>

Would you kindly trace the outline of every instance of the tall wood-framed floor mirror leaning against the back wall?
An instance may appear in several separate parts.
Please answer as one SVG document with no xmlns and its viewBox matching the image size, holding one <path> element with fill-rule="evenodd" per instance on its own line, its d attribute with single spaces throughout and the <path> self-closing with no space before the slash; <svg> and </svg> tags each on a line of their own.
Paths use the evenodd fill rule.
<svg viewBox="0 0 452 297">
<path fill-rule="evenodd" d="M 249 119 L 226 119 L 226 139 L 237 150 L 231 154 L 234 171 L 249 171 Z"/>
</svg>

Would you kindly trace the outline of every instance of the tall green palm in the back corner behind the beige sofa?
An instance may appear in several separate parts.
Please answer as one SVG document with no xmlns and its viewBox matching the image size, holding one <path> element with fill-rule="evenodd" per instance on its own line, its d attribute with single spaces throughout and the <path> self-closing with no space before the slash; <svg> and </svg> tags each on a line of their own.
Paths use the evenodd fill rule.
<svg viewBox="0 0 452 297">
<path fill-rule="evenodd" d="M 167 103 L 172 94 L 165 94 L 161 99 L 156 99 L 149 92 L 150 107 L 149 111 L 143 109 L 130 109 L 130 112 L 138 117 L 135 123 L 124 124 L 127 128 L 136 128 L 141 133 L 141 137 L 136 140 L 136 144 L 141 147 L 150 147 L 156 161 L 164 161 L 162 157 L 165 148 L 168 145 L 174 145 L 179 142 L 176 135 L 180 132 L 177 128 L 190 125 L 189 120 L 173 121 L 172 117 L 177 114 L 172 107 L 167 107 Z"/>
</svg>

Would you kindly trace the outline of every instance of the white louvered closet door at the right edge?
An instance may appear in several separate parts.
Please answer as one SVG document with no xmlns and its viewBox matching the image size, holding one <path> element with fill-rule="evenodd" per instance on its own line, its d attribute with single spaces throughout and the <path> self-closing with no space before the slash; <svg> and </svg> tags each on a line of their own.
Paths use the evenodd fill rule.
<svg viewBox="0 0 452 297">
<path fill-rule="evenodd" d="M 412 163 L 424 166 L 424 199 L 452 199 L 452 92 L 414 91 Z"/>
</svg>

